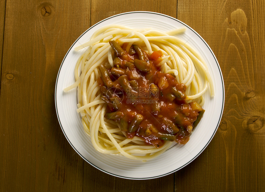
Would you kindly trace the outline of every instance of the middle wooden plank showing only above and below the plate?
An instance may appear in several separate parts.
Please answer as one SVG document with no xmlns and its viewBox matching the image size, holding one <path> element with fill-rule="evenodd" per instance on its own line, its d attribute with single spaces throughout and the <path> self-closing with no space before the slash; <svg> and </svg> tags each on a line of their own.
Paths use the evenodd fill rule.
<svg viewBox="0 0 265 192">
<path fill-rule="evenodd" d="M 167 7 L 167 9 L 165 9 Z M 112 1 L 105 6 L 105 1 L 92 0 L 91 2 L 91 25 L 108 18 L 115 14 L 129 11 L 153 11 L 169 16 L 177 16 L 177 2 L 166 1 L 125 1 L 120 3 L 118 0 Z M 93 175 L 93 177 L 91 177 Z M 84 164 L 84 190 L 85 191 L 173 191 L 174 174 L 168 176 L 149 179 L 149 180 L 128 180 L 117 178 L 92 167 L 88 163 Z M 104 184 L 97 182 L 97 178 L 101 178 Z"/>
</svg>

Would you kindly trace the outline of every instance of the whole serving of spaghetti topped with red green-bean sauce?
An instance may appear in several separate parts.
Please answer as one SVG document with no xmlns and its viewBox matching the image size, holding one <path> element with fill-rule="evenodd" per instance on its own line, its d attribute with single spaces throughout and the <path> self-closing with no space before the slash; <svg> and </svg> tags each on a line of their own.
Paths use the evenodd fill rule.
<svg viewBox="0 0 265 192">
<path fill-rule="evenodd" d="M 104 154 L 149 160 L 173 142 L 185 144 L 203 116 L 213 82 L 198 52 L 162 32 L 108 25 L 75 47 L 78 109 L 84 131 Z"/>
</svg>

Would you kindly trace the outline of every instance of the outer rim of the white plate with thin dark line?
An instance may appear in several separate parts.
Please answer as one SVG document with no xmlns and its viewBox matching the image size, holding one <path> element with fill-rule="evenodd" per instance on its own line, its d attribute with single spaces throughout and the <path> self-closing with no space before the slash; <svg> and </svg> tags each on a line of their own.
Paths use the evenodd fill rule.
<svg viewBox="0 0 265 192">
<path fill-rule="evenodd" d="M 222 80 L 222 110 L 220 112 L 220 116 L 219 116 L 219 120 L 218 120 L 218 123 L 215 127 L 215 130 L 211 136 L 211 138 L 209 139 L 209 141 L 206 143 L 206 145 L 202 148 L 202 150 L 197 154 L 195 155 L 192 159 L 190 159 L 190 161 L 186 162 L 184 165 L 182 165 L 181 167 L 178 167 L 177 169 L 174 169 L 168 173 L 165 173 L 165 174 L 159 174 L 157 176 L 152 176 L 152 177 L 144 177 L 144 178 L 135 178 L 135 177 L 126 177 L 126 176 L 121 176 L 121 175 L 118 175 L 118 174 L 113 174 L 111 172 L 108 172 L 96 165 L 94 165 L 93 163 L 91 163 L 90 161 L 88 161 L 74 146 L 73 144 L 71 143 L 71 141 L 68 139 L 64 129 L 63 129 L 63 126 L 62 126 L 62 123 L 61 123 L 61 120 L 60 120 L 60 117 L 59 117 L 59 113 L 58 113 L 58 108 L 57 108 L 57 99 L 56 99 L 56 96 L 57 96 L 57 86 L 58 86 L 58 79 L 59 79 L 59 74 L 60 74 L 60 71 L 61 71 L 61 68 L 63 66 L 63 63 L 67 57 L 67 55 L 69 54 L 69 52 L 71 51 L 71 49 L 73 48 L 73 46 L 75 45 L 75 43 L 85 34 L 87 33 L 90 29 L 94 28 L 96 25 L 99 25 L 100 23 L 104 22 L 104 21 L 107 21 L 108 19 L 111 19 L 111 18 L 115 18 L 115 17 L 118 17 L 120 15 L 125 15 L 125 14 L 135 14 L 135 13 L 145 13 L 145 14 L 156 14 L 156 15 L 160 15 L 160 16 L 163 16 L 163 17 L 167 17 L 167 18 L 170 18 L 170 19 L 173 19 L 179 23 L 181 23 L 182 25 L 185 25 L 187 28 L 189 28 L 190 30 L 192 30 L 202 41 L 203 43 L 206 45 L 206 47 L 210 50 L 210 53 L 212 54 L 212 56 L 214 57 L 214 60 L 217 64 L 217 67 L 218 67 L 218 71 L 220 73 L 220 77 L 221 77 L 221 80 Z M 151 12 L 151 11 L 131 11 L 131 12 L 124 12 L 124 13 L 120 13 L 120 14 L 116 14 L 116 15 L 113 15 L 113 16 L 110 16 L 108 18 L 105 18 L 103 20 L 101 20 L 100 22 L 97 22 L 96 24 L 92 25 L 91 27 L 89 27 L 84 33 L 82 33 L 76 40 L 75 42 L 71 45 L 71 47 L 68 49 L 67 53 L 65 54 L 64 58 L 63 58 L 63 61 L 59 67 L 59 70 L 58 70 L 58 74 L 57 74 L 57 77 L 56 77 L 56 83 L 55 83 L 55 110 L 56 110 L 56 115 L 57 115 L 57 119 L 59 121 L 59 125 L 63 131 L 63 134 L 64 136 L 66 137 L 68 143 L 70 143 L 71 147 L 73 147 L 73 149 L 87 162 L 89 163 L 90 165 L 92 165 L 93 167 L 103 171 L 104 173 L 107 173 L 107 174 L 110 174 L 112 176 L 116 176 L 116 177 L 119 177 L 119 178 L 125 178 L 125 179 L 134 179 L 134 180 L 142 180 L 142 179 L 153 179 L 153 178 L 159 178 L 159 177 L 163 177 L 163 176 L 166 176 L 166 175 L 169 175 L 169 174 L 172 174 L 180 169 L 182 169 L 183 167 L 187 166 L 188 164 L 190 164 L 192 161 L 194 161 L 194 159 L 196 159 L 205 149 L 206 147 L 209 145 L 209 143 L 211 142 L 212 138 L 214 137 L 217 129 L 218 129 L 218 126 L 221 122 L 221 119 L 222 119 L 222 114 L 223 114 L 223 110 L 224 110 L 224 102 L 225 102 L 225 87 L 224 87 L 224 80 L 223 80 L 223 76 L 222 76 L 222 71 L 221 71 L 221 68 L 220 68 L 220 65 L 217 61 L 217 58 L 215 57 L 212 49 L 210 48 L 210 46 L 206 43 L 206 41 L 194 30 L 192 29 L 189 25 L 181 22 L 180 20 L 176 19 L 176 18 L 173 18 L 169 15 L 165 15 L 165 14 L 161 14 L 161 13 L 157 13 L 157 12 Z"/>
</svg>

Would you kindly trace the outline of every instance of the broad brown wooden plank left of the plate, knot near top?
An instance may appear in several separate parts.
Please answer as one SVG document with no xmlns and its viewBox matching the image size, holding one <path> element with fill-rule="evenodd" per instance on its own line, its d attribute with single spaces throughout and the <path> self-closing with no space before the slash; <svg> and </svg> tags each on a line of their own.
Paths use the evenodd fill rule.
<svg viewBox="0 0 265 192">
<path fill-rule="evenodd" d="M 6 1 L 1 191 L 82 191 L 84 160 L 59 127 L 54 93 L 64 55 L 89 27 L 89 11 L 89 1 Z"/>
</svg>

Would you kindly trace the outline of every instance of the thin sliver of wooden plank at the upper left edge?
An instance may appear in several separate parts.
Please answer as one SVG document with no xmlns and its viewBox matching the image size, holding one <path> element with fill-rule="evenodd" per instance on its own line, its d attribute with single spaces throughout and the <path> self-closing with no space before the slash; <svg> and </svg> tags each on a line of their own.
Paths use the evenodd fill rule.
<svg viewBox="0 0 265 192">
<path fill-rule="evenodd" d="M 6 0 L 0 0 L 0 70 L 2 69 L 5 13 L 6 13 Z M 2 73 L 0 72 L 0 81 L 1 81 L 1 74 Z M 0 84 L 0 93 L 1 93 L 1 84 Z"/>
</svg>

